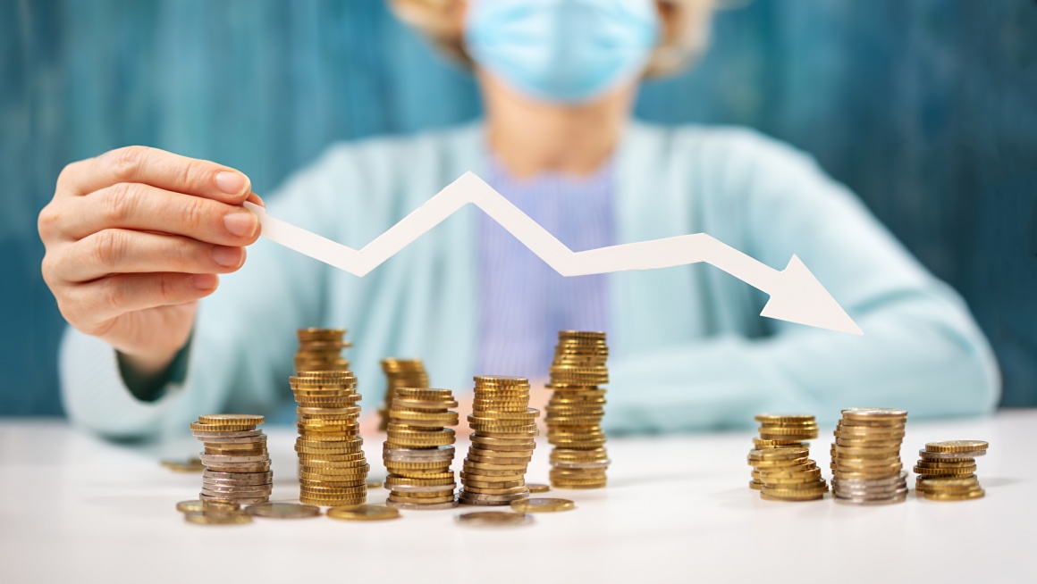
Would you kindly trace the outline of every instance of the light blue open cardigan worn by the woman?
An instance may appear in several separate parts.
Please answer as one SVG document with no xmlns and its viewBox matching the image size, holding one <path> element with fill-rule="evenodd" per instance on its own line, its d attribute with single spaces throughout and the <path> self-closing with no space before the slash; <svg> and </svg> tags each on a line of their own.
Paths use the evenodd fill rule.
<svg viewBox="0 0 1037 584">
<path fill-rule="evenodd" d="M 480 124 L 343 144 L 267 201 L 274 216 L 359 249 L 484 163 Z M 618 242 L 705 232 L 777 269 L 796 254 L 866 335 L 760 317 L 764 294 L 704 264 L 611 274 L 607 431 L 745 427 L 772 410 L 831 420 L 840 408 L 898 407 L 914 419 L 996 406 L 997 366 L 961 299 L 808 156 L 746 129 L 633 123 L 616 180 Z M 155 403 L 129 393 L 110 348 L 69 331 L 66 410 L 113 436 L 270 412 L 291 400 L 304 326 L 349 328 L 367 411 L 382 399 L 386 356 L 421 357 L 436 386 L 466 391 L 473 374 L 494 373 L 473 371 L 476 212 L 363 279 L 260 240 L 202 301 L 187 380 Z"/>
</svg>

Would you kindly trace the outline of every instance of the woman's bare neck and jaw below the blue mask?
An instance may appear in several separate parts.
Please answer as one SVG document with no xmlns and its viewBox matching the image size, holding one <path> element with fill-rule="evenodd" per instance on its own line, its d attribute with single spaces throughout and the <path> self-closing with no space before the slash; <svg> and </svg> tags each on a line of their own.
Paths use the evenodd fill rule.
<svg viewBox="0 0 1037 584">
<path fill-rule="evenodd" d="M 609 158 L 629 120 L 636 85 L 589 104 L 562 106 L 516 94 L 480 72 L 489 148 L 512 175 L 593 173 Z"/>
</svg>

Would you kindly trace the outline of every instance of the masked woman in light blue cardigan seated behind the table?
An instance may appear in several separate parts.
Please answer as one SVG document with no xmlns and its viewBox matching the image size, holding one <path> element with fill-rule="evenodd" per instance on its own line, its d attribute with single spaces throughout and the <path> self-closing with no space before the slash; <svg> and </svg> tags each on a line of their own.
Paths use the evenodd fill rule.
<svg viewBox="0 0 1037 584">
<path fill-rule="evenodd" d="M 39 217 L 44 274 L 73 325 L 62 375 L 76 422 L 142 436 L 269 412 L 290 401 L 295 330 L 342 325 L 368 393 L 385 356 L 422 357 L 436 385 L 461 390 L 474 373 L 543 377 L 558 329 L 607 330 L 610 431 L 994 406 L 996 364 L 961 300 L 808 157 L 745 129 L 632 121 L 642 75 L 704 47 L 705 2 L 394 7 L 471 64 L 485 119 L 334 146 L 271 214 L 360 247 L 471 170 L 576 251 L 706 232 L 777 268 L 794 253 L 867 335 L 760 318 L 765 297 L 708 266 L 561 279 L 471 209 L 364 279 L 265 241 L 246 263 L 258 227 L 240 205 L 258 199 L 243 174 L 128 148 L 69 165 Z"/>
</svg>

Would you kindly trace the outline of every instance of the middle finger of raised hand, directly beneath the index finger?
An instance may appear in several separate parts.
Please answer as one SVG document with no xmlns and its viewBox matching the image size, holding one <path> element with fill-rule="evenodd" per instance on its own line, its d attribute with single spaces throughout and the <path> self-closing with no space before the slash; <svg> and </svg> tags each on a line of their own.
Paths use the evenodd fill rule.
<svg viewBox="0 0 1037 584">
<path fill-rule="evenodd" d="M 60 223 L 60 237 L 66 240 L 112 228 L 171 233 L 235 246 L 248 245 L 259 237 L 259 221 L 242 207 L 142 183 L 120 182 L 54 206 L 51 214 L 64 216 L 52 223 Z"/>
</svg>

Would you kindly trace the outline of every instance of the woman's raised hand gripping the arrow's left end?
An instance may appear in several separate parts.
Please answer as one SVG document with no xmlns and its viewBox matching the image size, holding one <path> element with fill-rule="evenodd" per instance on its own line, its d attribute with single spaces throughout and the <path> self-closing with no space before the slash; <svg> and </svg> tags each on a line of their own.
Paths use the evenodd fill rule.
<svg viewBox="0 0 1037 584">
<path fill-rule="evenodd" d="M 62 316 L 142 374 L 165 369 L 219 273 L 245 263 L 259 236 L 237 171 L 130 146 L 73 163 L 39 213 L 44 280 Z"/>
</svg>

